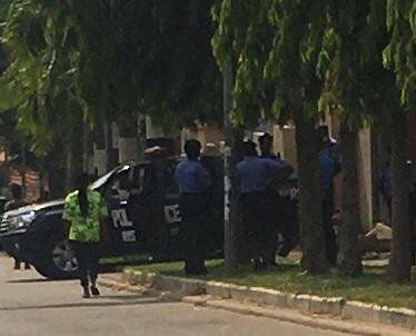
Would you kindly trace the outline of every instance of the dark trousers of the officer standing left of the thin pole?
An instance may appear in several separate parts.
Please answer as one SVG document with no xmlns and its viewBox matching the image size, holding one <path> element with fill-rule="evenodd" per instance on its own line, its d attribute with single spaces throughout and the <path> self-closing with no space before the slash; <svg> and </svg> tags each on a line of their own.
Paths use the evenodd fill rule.
<svg viewBox="0 0 416 336">
<path fill-rule="evenodd" d="M 187 274 L 205 273 L 206 227 L 209 219 L 206 194 L 182 194 L 180 196 L 182 216 L 184 260 Z"/>
</svg>

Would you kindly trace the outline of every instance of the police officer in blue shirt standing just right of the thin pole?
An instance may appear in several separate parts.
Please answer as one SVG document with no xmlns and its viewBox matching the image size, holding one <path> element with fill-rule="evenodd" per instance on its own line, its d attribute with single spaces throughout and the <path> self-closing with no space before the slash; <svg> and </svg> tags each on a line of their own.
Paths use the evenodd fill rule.
<svg viewBox="0 0 416 336">
<path fill-rule="evenodd" d="M 244 160 L 237 165 L 241 195 L 242 221 L 255 270 L 267 269 L 269 239 L 274 231 L 268 214 L 267 186 L 270 177 L 280 180 L 287 174 L 285 164 L 261 159 L 251 140 L 244 144 Z"/>
</svg>

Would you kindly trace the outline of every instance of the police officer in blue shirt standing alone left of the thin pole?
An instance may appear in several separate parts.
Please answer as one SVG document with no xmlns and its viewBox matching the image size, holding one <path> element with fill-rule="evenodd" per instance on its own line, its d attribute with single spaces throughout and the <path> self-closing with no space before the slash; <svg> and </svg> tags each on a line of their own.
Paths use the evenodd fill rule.
<svg viewBox="0 0 416 336">
<path fill-rule="evenodd" d="M 211 178 L 200 162 L 200 150 L 201 144 L 198 140 L 188 140 L 185 144 L 187 159 L 182 160 L 176 170 L 180 189 L 187 275 L 207 273 L 204 260 L 204 234 L 209 215 L 207 191 Z"/>
</svg>

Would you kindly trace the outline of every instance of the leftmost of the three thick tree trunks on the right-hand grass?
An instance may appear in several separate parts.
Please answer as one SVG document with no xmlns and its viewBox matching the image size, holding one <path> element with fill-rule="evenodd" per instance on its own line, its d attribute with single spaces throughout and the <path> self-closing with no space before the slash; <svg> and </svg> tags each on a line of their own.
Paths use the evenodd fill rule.
<svg viewBox="0 0 416 336">
<path fill-rule="evenodd" d="M 295 123 L 300 190 L 301 266 L 310 274 L 321 274 L 328 270 L 328 261 L 325 254 L 316 123 L 313 119 L 306 119 L 301 109 L 295 113 Z"/>
</svg>

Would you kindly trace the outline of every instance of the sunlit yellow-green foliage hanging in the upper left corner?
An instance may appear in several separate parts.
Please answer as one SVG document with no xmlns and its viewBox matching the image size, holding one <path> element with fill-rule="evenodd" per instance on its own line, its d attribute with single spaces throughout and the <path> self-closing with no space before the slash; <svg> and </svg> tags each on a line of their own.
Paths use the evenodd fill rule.
<svg viewBox="0 0 416 336">
<path fill-rule="evenodd" d="M 55 1 L 1 3 L 8 63 L 0 78 L 0 111 L 16 111 L 18 128 L 38 152 L 61 137 L 79 110 L 73 85 L 78 55 L 67 13 L 68 6 Z"/>
</svg>

